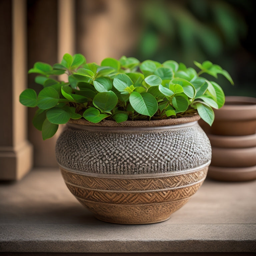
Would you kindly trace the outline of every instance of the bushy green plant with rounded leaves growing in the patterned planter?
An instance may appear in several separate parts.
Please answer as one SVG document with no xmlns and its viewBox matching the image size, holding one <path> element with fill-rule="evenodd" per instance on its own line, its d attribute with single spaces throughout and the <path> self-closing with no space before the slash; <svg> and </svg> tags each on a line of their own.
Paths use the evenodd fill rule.
<svg viewBox="0 0 256 256">
<path fill-rule="evenodd" d="M 84 118 L 98 123 L 103 119 L 117 123 L 126 120 L 179 118 L 199 114 L 209 125 L 214 120 L 213 108 L 225 102 L 221 87 L 201 77 L 232 78 L 220 66 L 205 61 L 194 62 L 199 68 L 187 68 L 173 60 L 159 63 L 136 58 L 106 58 L 101 65 L 86 63 L 81 54 L 65 54 L 61 63 L 53 66 L 36 62 L 30 73 L 39 74 L 35 82 L 43 89 L 38 93 L 26 89 L 20 102 L 38 107 L 33 124 L 42 131 L 43 139 L 52 137 L 59 124 Z M 56 76 L 67 74 L 67 82 Z"/>
</svg>

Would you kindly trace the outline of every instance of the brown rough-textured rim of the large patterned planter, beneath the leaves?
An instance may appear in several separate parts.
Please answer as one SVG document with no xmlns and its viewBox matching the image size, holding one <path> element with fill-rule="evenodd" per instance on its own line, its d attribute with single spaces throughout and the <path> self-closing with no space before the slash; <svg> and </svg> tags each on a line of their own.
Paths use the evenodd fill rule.
<svg viewBox="0 0 256 256">
<path fill-rule="evenodd" d="M 83 118 L 81 119 L 70 119 L 67 123 L 82 126 L 96 126 L 96 127 L 161 127 L 161 126 L 175 126 L 179 124 L 186 124 L 191 122 L 196 122 L 200 119 L 198 114 L 193 116 L 184 116 L 179 118 L 161 119 L 161 120 L 136 120 L 136 121 L 124 121 L 121 123 L 116 123 L 111 120 L 102 120 L 99 123 L 92 123 Z"/>
</svg>

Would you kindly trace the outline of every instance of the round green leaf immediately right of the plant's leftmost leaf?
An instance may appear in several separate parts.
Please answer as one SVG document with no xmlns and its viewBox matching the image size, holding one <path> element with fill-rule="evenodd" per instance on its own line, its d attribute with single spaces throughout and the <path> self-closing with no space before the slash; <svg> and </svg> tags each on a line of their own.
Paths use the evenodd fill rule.
<svg viewBox="0 0 256 256">
<path fill-rule="evenodd" d="M 37 105 L 41 109 L 52 108 L 57 105 L 59 98 L 59 94 L 55 89 L 45 87 L 38 94 Z"/>
</svg>

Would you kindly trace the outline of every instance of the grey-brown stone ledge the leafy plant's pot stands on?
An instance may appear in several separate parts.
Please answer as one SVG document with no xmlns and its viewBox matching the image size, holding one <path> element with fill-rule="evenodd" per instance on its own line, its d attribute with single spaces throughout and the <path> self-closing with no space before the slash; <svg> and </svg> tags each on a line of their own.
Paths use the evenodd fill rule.
<svg viewBox="0 0 256 256">
<path fill-rule="evenodd" d="M 111 224 L 80 205 L 57 169 L 37 169 L 0 184 L 0 252 L 256 252 L 255 195 L 256 181 L 206 180 L 165 222 Z"/>
</svg>

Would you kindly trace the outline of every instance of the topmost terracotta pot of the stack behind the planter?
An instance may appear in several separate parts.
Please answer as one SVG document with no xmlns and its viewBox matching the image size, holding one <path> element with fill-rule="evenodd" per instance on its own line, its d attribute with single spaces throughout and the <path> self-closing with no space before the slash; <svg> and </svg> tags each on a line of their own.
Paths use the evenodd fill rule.
<svg viewBox="0 0 256 256">
<path fill-rule="evenodd" d="M 209 133 L 243 136 L 256 133 L 256 98 L 226 96 L 225 104 L 214 110 L 215 119 Z"/>
</svg>

